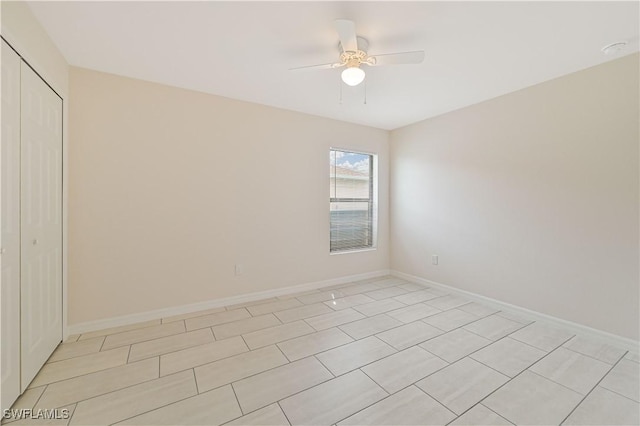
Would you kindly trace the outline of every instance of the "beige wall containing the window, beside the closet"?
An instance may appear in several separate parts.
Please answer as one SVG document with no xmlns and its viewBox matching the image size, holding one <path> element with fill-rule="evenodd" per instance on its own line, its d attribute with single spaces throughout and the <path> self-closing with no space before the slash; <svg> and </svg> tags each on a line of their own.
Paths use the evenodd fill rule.
<svg viewBox="0 0 640 426">
<path fill-rule="evenodd" d="M 388 268 L 388 132 L 86 69 L 70 81 L 70 324 Z M 375 251 L 329 255 L 330 146 L 379 155 Z"/>
</svg>

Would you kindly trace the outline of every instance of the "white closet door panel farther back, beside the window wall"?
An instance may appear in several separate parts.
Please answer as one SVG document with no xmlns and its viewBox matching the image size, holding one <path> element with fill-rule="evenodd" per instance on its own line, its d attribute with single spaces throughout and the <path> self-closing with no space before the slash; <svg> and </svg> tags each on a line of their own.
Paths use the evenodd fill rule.
<svg viewBox="0 0 640 426">
<path fill-rule="evenodd" d="M 21 390 L 62 340 L 62 100 L 21 63 Z"/>
</svg>

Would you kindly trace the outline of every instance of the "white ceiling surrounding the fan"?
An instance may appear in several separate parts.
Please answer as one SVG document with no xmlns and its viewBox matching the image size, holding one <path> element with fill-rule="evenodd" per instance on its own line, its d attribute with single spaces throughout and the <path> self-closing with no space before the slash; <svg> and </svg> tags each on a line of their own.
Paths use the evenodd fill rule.
<svg viewBox="0 0 640 426">
<path fill-rule="evenodd" d="M 633 2 L 30 2 L 71 65 L 394 129 L 638 50 Z M 424 49 L 421 65 L 334 62 L 336 18 L 369 54 Z M 600 48 L 629 41 L 617 55 Z"/>
</svg>

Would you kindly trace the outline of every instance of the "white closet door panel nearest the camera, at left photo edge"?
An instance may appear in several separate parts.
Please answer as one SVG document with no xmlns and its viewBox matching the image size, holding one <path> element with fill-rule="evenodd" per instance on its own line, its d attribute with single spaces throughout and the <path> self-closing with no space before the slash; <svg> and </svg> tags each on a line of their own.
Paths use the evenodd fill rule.
<svg viewBox="0 0 640 426">
<path fill-rule="evenodd" d="M 2 408 L 20 394 L 20 57 L 2 42 Z"/>
</svg>

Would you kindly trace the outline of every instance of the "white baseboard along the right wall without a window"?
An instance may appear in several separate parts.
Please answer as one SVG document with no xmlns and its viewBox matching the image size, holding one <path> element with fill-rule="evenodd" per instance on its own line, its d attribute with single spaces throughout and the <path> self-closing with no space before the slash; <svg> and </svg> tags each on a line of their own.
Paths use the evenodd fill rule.
<svg viewBox="0 0 640 426">
<path fill-rule="evenodd" d="M 531 321 L 541 321 L 550 325 L 562 327 L 576 334 L 579 334 L 585 337 L 592 337 L 594 339 L 600 340 L 604 343 L 608 343 L 620 349 L 631 350 L 632 352 L 635 352 L 635 353 L 637 353 L 639 350 L 640 342 L 633 339 L 629 339 L 627 337 L 618 336 L 616 334 L 591 328 L 576 322 L 564 320 L 562 318 L 557 318 L 551 315 L 542 314 L 540 312 L 532 311 L 530 309 L 522 308 L 520 306 L 512 305 L 510 303 L 501 302 L 499 300 L 482 296 L 476 293 L 472 293 L 470 291 L 460 290 L 455 287 L 451 287 L 451 286 L 441 284 L 435 281 L 431 281 L 426 278 L 421 278 L 415 275 L 406 274 L 404 272 L 391 270 L 391 275 L 398 278 L 403 278 L 407 281 L 411 281 L 416 284 L 422 284 L 428 287 L 435 287 L 441 290 L 445 290 L 449 293 L 458 294 L 460 296 L 466 297 L 467 299 L 471 299 L 471 300 L 480 302 L 484 305 L 491 306 L 492 308 L 499 309 L 501 311 L 512 312 L 514 314 L 520 315 L 521 317 Z"/>
</svg>

